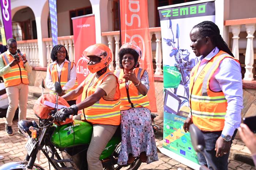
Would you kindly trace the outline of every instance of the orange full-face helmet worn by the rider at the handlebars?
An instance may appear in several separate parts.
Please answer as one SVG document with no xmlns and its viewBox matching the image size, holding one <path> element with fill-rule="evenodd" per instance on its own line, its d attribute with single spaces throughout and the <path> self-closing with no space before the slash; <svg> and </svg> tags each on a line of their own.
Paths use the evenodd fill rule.
<svg viewBox="0 0 256 170">
<path fill-rule="evenodd" d="M 87 68 L 91 73 L 95 73 L 102 68 L 105 68 L 112 61 L 112 52 L 109 47 L 104 44 L 94 44 L 87 47 L 83 51 L 83 55 L 87 57 L 97 56 L 101 58 L 101 61 L 96 64 L 87 64 Z"/>
</svg>

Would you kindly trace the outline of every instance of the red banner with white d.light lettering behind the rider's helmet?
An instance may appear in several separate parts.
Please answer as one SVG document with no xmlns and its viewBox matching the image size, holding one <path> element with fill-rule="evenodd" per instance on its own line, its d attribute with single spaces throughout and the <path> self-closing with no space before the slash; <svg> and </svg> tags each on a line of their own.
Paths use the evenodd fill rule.
<svg viewBox="0 0 256 170">
<path fill-rule="evenodd" d="M 96 43 L 95 17 L 94 14 L 84 15 L 72 18 L 74 32 L 74 50 L 76 63 L 76 77 L 80 85 L 90 73 L 87 68 L 89 59 L 83 55 L 83 51 Z M 81 96 L 78 97 L 76 103 L 81 102 Z"/>
</svg>

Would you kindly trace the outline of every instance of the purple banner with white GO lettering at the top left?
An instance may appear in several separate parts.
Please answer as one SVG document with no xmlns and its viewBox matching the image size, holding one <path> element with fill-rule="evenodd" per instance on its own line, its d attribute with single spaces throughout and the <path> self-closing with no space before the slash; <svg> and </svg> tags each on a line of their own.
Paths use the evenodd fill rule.
<svg viewBox="0 0 256 170">
<path fill-rule="evenodd" d="M 0 0 L 5 39 L 12 38 L 11 0 Z"/>
</svg>

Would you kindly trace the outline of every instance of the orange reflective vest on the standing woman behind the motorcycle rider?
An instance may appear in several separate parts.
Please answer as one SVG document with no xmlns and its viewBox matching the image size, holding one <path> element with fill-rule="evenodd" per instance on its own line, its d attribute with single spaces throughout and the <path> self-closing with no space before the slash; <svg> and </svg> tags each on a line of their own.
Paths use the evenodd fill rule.
<svg viewBox="0 0 256 170">
<path fill-rule="evenodd" d="M 52 82 L 60 82 L 61 87 L 64 87 L 65 84 L 69 81 L 70 79 L 70 71 L 72 70 L 73 66 L 75 65 L 74 62 L 64 62 L 64 65 L 61 69 L 61 73 L 60 73 L 60 80 L 59 80 L 59 76 L 58 76 L 58 72 L 57 72 L 57 63 L 55 64 L 50 64 L 48 69 L 50 74 L 52 75 Z M 78 82 L 76 79 L 75 82 L 75 86 L 73 86 L 71 89 L 67 90 L 66 93 L 76 89 L 76 87 L 78 87 Z M 56 94 L 54 91 L 50 91 L 50 94 Z M 77 98 L 73 99 L 76 100 Z"/>
</svg>

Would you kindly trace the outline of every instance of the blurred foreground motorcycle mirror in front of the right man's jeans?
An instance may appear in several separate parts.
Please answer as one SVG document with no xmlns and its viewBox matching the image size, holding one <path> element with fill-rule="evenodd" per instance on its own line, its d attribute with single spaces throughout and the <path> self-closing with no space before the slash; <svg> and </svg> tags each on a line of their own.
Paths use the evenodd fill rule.
<svg viewBox="0 0 256 170">
<path fill-rule="evenodd" d="M 193 148 L 196 152 L 202 153 L 205 148 L 203 133 L 195 126 L 195 124 L 189 126 L 189 132 Z"/>
</svg>

